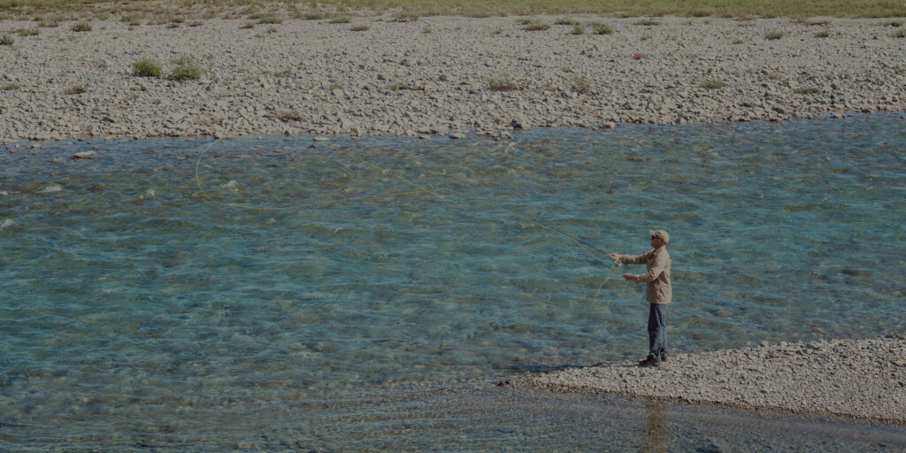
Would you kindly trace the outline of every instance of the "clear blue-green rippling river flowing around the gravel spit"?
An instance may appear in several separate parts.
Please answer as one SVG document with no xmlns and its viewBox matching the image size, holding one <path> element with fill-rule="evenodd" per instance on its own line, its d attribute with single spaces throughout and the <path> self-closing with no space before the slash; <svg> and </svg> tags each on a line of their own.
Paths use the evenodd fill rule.
<svg viewBox="0 0 906 453">
<path fill-rule="evenodd" d="M 514 143 L 251 137 L 3 150 L 2 439 L 35 449 L 637 448 L 651 418 L 643 401 L 490 385 L 638 358 L 646 341 L 643 287 L 506 209 L 607 251 L 641 253 L 648 229 L 670 230 L 675 350 L 902 332 L 902 126 L 874 114 L 532 130 Z M 69 159 L 82 150 L 99 159 Z M 704 428 L 687 421 L 697 410 Z M 776 441 L 747 437 L 740 420 L 760 417 L 751 412 L 663 412 L 674 447 Z M 906 445 L 900 428 L 858 424 L 874 433 L 858 438 L 854 422 L 793 419 L 766 422 L 780 447 Z M 823 434 L 813 445 L 806 432 Z"/>
</svg>

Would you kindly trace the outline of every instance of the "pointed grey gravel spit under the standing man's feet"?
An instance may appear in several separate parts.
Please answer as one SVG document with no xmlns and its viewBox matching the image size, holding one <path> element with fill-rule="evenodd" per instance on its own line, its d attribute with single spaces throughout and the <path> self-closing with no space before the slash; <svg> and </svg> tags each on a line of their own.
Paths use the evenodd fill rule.
<svg viewBox="0 0 906 453">
<path fill-rule="evenodd" d="M 906 424 L 906 337 L 762 344 L 539 372 L 507 385 Z"/>
</svg>

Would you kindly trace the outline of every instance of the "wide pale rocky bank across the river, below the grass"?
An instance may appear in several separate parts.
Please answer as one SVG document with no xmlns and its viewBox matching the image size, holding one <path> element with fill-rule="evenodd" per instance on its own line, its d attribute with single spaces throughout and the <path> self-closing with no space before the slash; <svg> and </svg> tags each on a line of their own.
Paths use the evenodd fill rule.
<svg viewBox="0 0 906 453">
<path fill-rule="evenodd" d="M 527 31 L 516 17 L 394 22 L 387 15 L 343 24 L 113 18 L 88 32 L 3 21 L 0 34 L 14 43 L 0 45 L 0 141 L 506 137 L 531 127 L 906 110 L 906 40 L 892 21 L 537 19 L 550 28 Z M 612 34 L 595 34 L 593 23 Z M 143 58 L 166 73 L 180 55 L 198 63 L 200 79 L 132 73 Z"/>
</svg>

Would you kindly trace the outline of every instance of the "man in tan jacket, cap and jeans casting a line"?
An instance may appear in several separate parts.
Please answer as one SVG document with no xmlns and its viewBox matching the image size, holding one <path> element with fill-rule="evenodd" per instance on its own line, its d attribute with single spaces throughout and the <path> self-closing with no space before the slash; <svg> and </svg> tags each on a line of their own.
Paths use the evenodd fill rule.
<svg viewBox="0 0 906 453">
<path fill-rule="evenodd" d="M 627 265 L 645 265 L 648 272 L 640 275 L 623 274 L 626 280 L 636 283 L 645 282 L 645 300 L 651 304 L 648 313 L 648 358 L 640 361 L 641 367 L 656 367 L 667 360 L 667 304 L 670 304 L 670 254 L 667 244 L 670 235 L 659 229 L 649 231 L 651 250 L 641 255 L 607 254 L 614 262 L 622 261 Z"/>
</svg>

